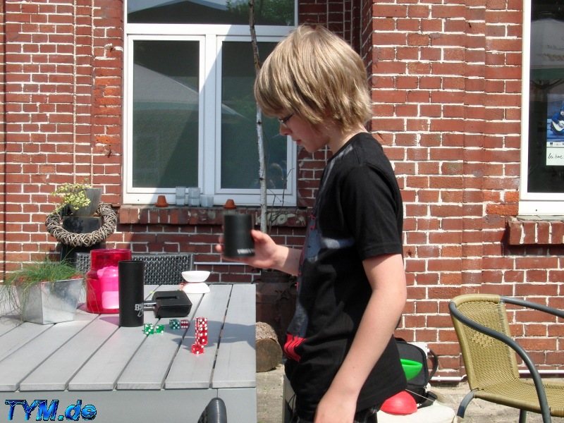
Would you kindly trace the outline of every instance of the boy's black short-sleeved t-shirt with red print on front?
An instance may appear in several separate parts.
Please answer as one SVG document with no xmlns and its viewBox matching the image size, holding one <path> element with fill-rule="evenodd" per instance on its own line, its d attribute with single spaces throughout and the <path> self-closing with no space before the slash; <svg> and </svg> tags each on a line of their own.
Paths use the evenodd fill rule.
<svg viewBox="0 0 564 423">
<path fill-rule="evenodd" d="M 286 375 L 302 419 L 313 421 L 372 293 L 362 260 L 402 254 L 403 206 L 390 162 L 372 135 L 352 137 L 327 163 L 300 259 L 298 302 L 288 328 Z M 390 339 L 357 401 L 379 405 L 405 389 Z"/>
</svg>

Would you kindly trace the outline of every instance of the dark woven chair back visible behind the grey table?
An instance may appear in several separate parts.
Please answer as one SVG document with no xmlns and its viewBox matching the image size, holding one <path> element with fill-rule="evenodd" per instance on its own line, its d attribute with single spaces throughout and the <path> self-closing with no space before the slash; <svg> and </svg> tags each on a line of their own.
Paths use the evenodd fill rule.
<svg viewBox="0 0 564 423">
<path fill-rule="evenodd" d="M 184 281 L 182 272 L 194 267 L 194 255 L 188 252 L 133 254 L 131 258 L 145 262 L 145 285 L 176 285 Z M 86 274 L 90 270 L 90 252 L 77 252 L 75 267 Z"/>
</svg>

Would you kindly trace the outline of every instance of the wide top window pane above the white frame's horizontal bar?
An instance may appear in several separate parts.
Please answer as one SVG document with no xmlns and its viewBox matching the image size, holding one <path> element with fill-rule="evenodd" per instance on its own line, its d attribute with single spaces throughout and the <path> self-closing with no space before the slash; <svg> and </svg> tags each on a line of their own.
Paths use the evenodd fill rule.
<svg viewBox="0 0 564 423">
<path fill-rule="evenodd" d="M 257 25 L 294 25 L 294 0 L 255 1 Z M 129 0 L 128 23 L 249 25 L 247 0 Z"/>
</svg>

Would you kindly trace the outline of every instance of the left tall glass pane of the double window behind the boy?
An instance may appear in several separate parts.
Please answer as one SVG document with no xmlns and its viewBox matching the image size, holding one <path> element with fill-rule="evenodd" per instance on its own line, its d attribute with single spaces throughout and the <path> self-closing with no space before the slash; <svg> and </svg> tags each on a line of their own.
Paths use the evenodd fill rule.
<svg viewBox="0 0 564 423">
<path fill-rule="evenodd" d="M 198 42 L 133 47 L 133 188 L 197 186 Z"/>
</svg>

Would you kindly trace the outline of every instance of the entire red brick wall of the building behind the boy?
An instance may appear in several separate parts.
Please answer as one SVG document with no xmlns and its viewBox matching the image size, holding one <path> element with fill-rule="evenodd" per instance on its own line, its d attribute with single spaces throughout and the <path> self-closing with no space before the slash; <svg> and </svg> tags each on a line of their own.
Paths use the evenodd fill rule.
<svg viewBox="0 0 564 423">
<path fill-rule="evenodd" d="M 56 250 L 44 227 L 54 208 L 49 193 L 94 175 L 102 200 L 119 213 L 107 247 L 195 252 L 212 280 L 254 280 L 256 269 L 219 264 L 220 222 L 202 210 L 120 207 L 123 3 L 1 7 L 1 270 Z M 440 374 L 457 376 L 464 370 L 450 298 L 501 293 L 564 308 L 562 221 L 515 218 L 522 1 L 303 0 L 299 13 L 301 22 L 342 35 L 369 67 L 371 130 L 393 162 L 405 208 L 409 300 L 398 336 L 429 343 Z M 299 152 L 300 208 L 286 210 L 292 219 L 273 229 L 278 242 L 301 245 L 300 219 L 327 158 L 326 150 Z M 524 341 L 534 360 L 561 369 L 562 321 L 517 323 L 523 317 L 512 312 L 511 324 L 518 336 L 537 337 Z"/>
</svg>

